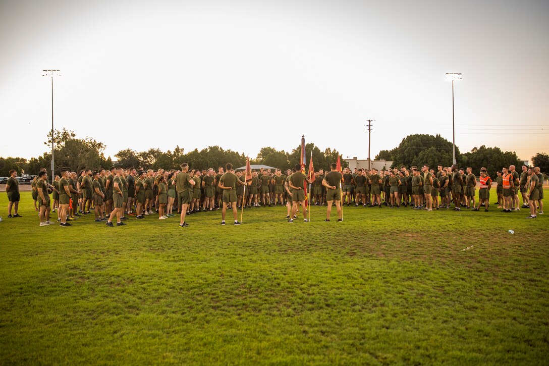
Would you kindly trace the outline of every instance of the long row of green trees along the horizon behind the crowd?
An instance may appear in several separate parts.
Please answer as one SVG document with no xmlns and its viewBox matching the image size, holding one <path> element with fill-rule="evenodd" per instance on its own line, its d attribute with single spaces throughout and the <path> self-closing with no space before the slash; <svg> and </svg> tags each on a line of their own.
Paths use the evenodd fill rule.
<svg viewBox="0 0 549 366">
<path fill-rule="evenodd" d="M 241 167 L 246 163 L 243 153 L 223 149 L 219 146 L 209 146 L 201 150 L 194 149 L 185 152 L 183 148 L 176 146 L 173 150 L 166 152 L 158 148 L 150 148 L 147 151 L 135 151 L 131 148 L 120 150 L 114 154 L 114 161 L 111 157 L 105 158 L 106 146 L 92 138 L 77 138 L 70 130 L 55 130 L 55 170 L 69 168 L 72 171 L 80 171 L 83 168 L 98 169 L 115 167 L 143 167 L 145 169 L 178 169 L 182 163 L 188 163 L 192 168 L 214 168 L 223 167 L 227 163 L 233 167 Z M 44 145 L 51 146 L 52 133 L 49 132 Z M 334 163 L 339 151 L 332 148 L 321 150 L 314 143 L 307 143 L 305 146 L 307 154 L 306 166 L 309 167 L 309 159 L 312 151 L 312 160 L 315 169 L 328 169 Z M 291 152 L 277 150 L 272 147 L 263 147 L 256 157 L 250 157 L 251 164 L 265 164 L 270 167 L 290 169 L 299 164 L 301 146 L 297 146 Z M 401 165 L 406 167 L 421 166 L 428 164 L 436 169 L 436 165 L 442 164 L 449 167 L 452 164 L 452 143 L 440 135 L 408 135 L 402 139 L 399 146 L 391 150 L 382 150 L 377 154 L 376 160 L 385 159 L 393 161 L 391 168 Z M 496 176 L 496 171 L 502 167 L 516 165 L 520 170 L 522 162 L 515 152 L 503 152 L 498 147 L 475 147 L 470 152 L 460 153 L 456 146 L 456 160 L 460 167 L 471 167 L 478 172 L 481 167 L 488 168 L 490 176 Z M 549 155 L 537 153 L 531 158 L 536 167 L 540 167 L 542 173 L 549 174 Z M 0 176 L 8 176 L 9 170 L 15 169 L 21 174 L 36 175 L 40 168 L 47 168 L 51 165 L 51 152 L 44 152 L 42 156 L 31 158 L 2 158 L 0 157 Z M 343 167 L 348 164 L 342 160 Z"/>
</svg>

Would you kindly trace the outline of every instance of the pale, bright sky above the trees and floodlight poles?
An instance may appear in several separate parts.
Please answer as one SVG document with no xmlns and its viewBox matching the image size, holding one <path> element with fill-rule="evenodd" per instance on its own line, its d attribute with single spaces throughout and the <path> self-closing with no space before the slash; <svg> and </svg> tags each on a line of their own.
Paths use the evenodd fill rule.
<svg viewBox="0 0 549 366">
<path fill-rule="evenodd" d="M 51 129 L 255 157 L 314 142 L 372 158 L 408 134 L 549 152 L 547 1 L 0 2 L 0 156 Z"/>
</svg>

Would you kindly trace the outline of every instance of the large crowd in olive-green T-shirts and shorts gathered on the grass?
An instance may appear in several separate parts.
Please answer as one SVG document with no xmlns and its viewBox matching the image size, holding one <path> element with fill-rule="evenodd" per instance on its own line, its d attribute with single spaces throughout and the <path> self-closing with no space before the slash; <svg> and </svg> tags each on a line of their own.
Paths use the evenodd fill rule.
<svg viewBox="0 0 549 366">
<path fill-rule="evenodd" d="M 301 165 L 282 172 L 281 169 L 235 171 L 232 164 L 214 169 L 152 170 L 143 168 L 83 169 L 80 174 L 61 169 L 53 182 L 46 169 L 41 169 L 32 182 L 32 199 L 40 217 L 40 226 L 51 225 L 51 212 L 57 212 L 60 226 L 72 226 L 82 215 L 94 215 L 95 221 L 108 226 L 126 225 L 129 218 L 144 219 L 158 214 L 159 220 L 180 217 L 180 226 L 188 226 L 187 215 L 221 209 L 221 225 L 225 225 L 227 209 L 232 210 L 234 225 L 239 225 L 237 210 L 253 207 L 285 206 L 289 223 L 301 210 L 307 222 L 307 204 L 327 207 L 324 221 L 330 221 L 332 207 L 342 220 L 341 206 L 365 208 L 405 208 L 427 210 L 483 209 L 488 212 L 492 182 L 497 205 L 502 212 L 529 209 L 527 219 L 543 214 L 544 175 L 539 168 L 514 165 L 497 171 L 494 180 L 486 168 L 477 177 L 471 168 L 443 167 L 437 170 L 402 166 L 398 169 L 345 168 L 338 171 L 333 163 L 330 171 L 323 169 L 302 172 Z M 8 218 L 21 217 L 17 171 L 10 171 L 5 187 L 8 194 Z M 477 201 L 478 189 L 478 201 Z M 306 192 L 308 191 L 308 194 Z M 492 197 L 494 197 L 492 195 Z M 495 198 L 495 197 L 494 197 Z M 521 205 L 522 199 L 522 205 Z M 13 211 L 13 214 L 12 214 Z"/>
</svg>

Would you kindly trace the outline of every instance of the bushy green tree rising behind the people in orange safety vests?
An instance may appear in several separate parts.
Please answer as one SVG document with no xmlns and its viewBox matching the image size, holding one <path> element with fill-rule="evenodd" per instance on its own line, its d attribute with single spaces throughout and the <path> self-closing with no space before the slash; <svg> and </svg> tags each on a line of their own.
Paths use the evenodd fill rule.
<svg viewBox="0 0 549 366">
<path fill-rule="evenodd" d="M 471 167 L 473 174 L 477 176 L 482 167 L 485 167 L 488 174 L 494 178 L 496 171 L 501 170 L 503 167 L 515 165 L 517 170 L 520 171 L 520 165 L 522 165 L 515 152 L 503 152 L 499 147 L 486 147 L 484 145 L 479 148 L 474 147 L 470 152 L 463 154 L 463 157 L 463 167 Z"/>
</svg>

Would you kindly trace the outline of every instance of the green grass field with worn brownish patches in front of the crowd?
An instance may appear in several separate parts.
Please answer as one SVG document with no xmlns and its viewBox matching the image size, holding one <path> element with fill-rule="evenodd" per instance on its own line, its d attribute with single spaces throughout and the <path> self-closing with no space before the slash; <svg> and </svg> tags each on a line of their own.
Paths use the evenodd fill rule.
<svg viewBox="0 0 549 366">
<path fill-rule="evenodd" d="M 548 214 L 345 208 L 324 223 L 313 206 L 288 224 L 277 207 L 236 227 L 215 212 L 61 228 L 21 199 L 7 219 L 0 195 L 2 364 L 549 359 Z"/>
</svg>

